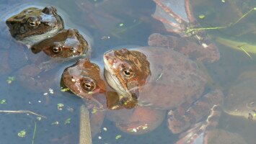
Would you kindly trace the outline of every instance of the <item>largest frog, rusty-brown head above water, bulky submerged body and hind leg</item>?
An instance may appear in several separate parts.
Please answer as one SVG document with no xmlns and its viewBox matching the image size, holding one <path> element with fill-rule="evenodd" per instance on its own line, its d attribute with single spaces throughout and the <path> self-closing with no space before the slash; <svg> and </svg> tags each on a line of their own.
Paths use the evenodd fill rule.
<svg viewBox="0 0 256 144">
<path fill-rule="evenodd" d="M 168 48 L 138 47 L 104 54 L 105 78 L 119 99 L 169 110 L 167 123 L 180 134 L 223 103 L 220 89 L 208 91 L 207 76 L 195 61 Z"/>
</svg>

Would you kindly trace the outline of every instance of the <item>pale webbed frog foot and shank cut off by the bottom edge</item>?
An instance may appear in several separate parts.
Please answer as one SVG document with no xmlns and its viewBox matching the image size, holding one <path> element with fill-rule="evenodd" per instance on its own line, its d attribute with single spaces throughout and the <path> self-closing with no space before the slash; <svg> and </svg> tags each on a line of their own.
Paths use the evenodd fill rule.
<svg viewBox="0 0 256 144">
<path fill-rule="evenodd" d="M 213 105 L 211 113 L 209 114 L 206 122 L 199 122 L 195 124 L 190 130 L 180 135 L 180 140 L 176 144 L 193 144 L 203 143 L 208 144 L 209 137 L 212 130 L 216 129 L 219 123 L 222 109 L 219 104 Z"/>
</svg>

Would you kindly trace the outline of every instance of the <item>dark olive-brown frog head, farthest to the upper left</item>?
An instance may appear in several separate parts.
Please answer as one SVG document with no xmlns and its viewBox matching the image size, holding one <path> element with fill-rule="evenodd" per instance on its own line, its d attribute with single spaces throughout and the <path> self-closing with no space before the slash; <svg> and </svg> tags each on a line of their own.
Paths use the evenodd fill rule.
<svg viewBox="0 0 256 144">
<path fill-rule="evenodd" d="M 63 19 L 53 6 L 30 7 L 6 19 L 9 32 L 16 40 L 33 45 L 63 30 Z"/>
</svg>

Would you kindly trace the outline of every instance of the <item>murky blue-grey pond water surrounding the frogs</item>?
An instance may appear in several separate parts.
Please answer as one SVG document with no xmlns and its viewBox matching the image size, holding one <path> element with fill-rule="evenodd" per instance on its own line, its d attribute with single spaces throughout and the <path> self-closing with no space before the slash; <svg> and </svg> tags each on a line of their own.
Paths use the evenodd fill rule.
<svg viewBox="0 0 256 144">
<path fill-rule="evenodd" d="M 251 104 L 250 107 L 249 103 L 239 106 L 240 101 L 234 100 L 234 105 L 249 109 L 248 112 L 244 111 L 244 117 L 228 112 L 222 114 L 218 129 L 236 133 L 246 143 L 255 143 L 256 91 L 252 86 L 255 83 L 247 84 L 247 80 L 256 79 L 256 11 L 251 10 L 256 7 L 256 1 L 194 0 L 190 3 L 201 27 L 215 27 L 206 32 L 219 48 L 221 58 L 215 63 L 206 63 L 203 71 L 214 81 L 213 86 L 224 91 L 224 107 L 228 104 L 226 101 L 240 99 L 239 96 L 245 97 L 240 100 L 241 103 L 248 101 Z M 12 114 L 0 113 L 0 144 L 79 143 L 79 115 L 84 102 L 74 94 L 61 92 L 59 85 L 63 69 L 73 65 L 77 59 L 50 64 L 50 69 L 44 71 L 40 78 L 37 76 L 22 82 L 20 75 L 30 75 L 32 69 L 20 70 L 28 65 L 37 65 L 37 58 L 45 58 L 45 55 L 34 55 L 25 45 L 15 41 L 5 24 L 6 18 L 24 8 L 48 5 L 56 6 L 66 28 L 76 28 L 89 38 L 92 45 L 90 59 L 97 63 L 102 63 L 102 55 L 107 50 L 148 45 L 152 33 L 175 35 L 167 32 L 162 22 L 151 17 L 156 9 L 154 1 L 0 0 L 0 111 L 15 111 Z M 48 66 L 48 63 L 42 65 Z M 241 76 L 242 73 L 245 74 Z M 35 84 L 35 81 L 54 82 L 45 87 Z M 239 89 L 238 97 L 233 89 Z M 47 118 L 28 114 L 25 110 Z M 249 113 L 253 116 L 252 120 L 247 119 Z M 127 134 L 118 130 L 115 123 L 105 120 L 100 133 L 92 138 L 92 143 L 175 143 L 177 140 L 179 135 L 168 130 L 167 120 L 144 135 Z"/>
</svg>

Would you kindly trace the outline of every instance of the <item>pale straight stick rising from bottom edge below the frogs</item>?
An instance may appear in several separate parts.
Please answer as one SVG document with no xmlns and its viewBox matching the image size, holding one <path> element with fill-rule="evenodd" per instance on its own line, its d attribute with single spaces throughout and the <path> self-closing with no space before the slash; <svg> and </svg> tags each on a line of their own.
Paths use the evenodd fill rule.
<svg viewBox="0 0 256 144">
<path fill-rule="evenodd" d="M 80 136 L 79 144 L 92 144 L 91 127 L 89 122 L 89 111 L 82 105 L 80 107 Z"/>
</svg>

